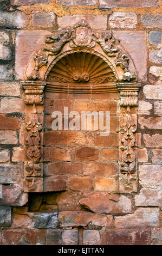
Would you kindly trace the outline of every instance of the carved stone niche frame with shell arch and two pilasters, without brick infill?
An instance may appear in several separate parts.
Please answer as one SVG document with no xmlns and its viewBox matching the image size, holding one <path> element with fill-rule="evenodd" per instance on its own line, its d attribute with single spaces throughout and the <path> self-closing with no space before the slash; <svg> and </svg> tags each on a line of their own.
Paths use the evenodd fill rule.
<svg viewBox="0 0 162 256">
<path fill-rule="evenodd" d="M 42 155 L 39 155 L 42 154 L 43 132 L 40 130 L 41 115 L 36 113 L 35 106 L 43 105 L 44 90 L 68 94 L 120 92 L 119 115 L 122 120 L 119 142 L 119 192 L 137 191 L 135 107 L 140 84 L 137 83 L 137 72 L 131 57 L 120 45 L 120 41 L 114 38 L 112 31 L 93 31 L 85 21 L 81 21 L 73 29 L 55 31 L 53 35 L 47 36 L 44 44 L 30 59 L 26 80 L 22 81 L 22 86 L 25 103 L 34 106 L 30 124 L 27 124 L 29 162 L 25 163 L 25 191 L 43 190 L 43 171 L 40 163 Z M 134 108 L 133 114 L 131 108 Z"/>
</svg>

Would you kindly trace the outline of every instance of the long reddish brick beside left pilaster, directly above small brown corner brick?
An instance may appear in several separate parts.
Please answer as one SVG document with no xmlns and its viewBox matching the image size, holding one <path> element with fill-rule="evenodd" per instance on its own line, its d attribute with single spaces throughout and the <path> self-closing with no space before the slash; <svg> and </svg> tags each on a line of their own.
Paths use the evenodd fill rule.
<svg viewBox="0 0 162 256">
<path fill-rule="evenodd" d="M 45 167 L 44 174 L 46 176 L 82 174 L 82 163 L 49 163 Z"/>
</svg>

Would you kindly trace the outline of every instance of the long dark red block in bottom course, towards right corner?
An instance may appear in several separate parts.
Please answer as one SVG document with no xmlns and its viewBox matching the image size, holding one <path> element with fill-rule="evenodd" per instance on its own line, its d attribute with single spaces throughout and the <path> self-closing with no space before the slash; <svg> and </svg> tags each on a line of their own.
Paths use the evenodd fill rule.
<svg viewBox="0 0 162 256">
<path fill-rule="evenodd" d="M 147 230 L 105 231 L 102 245 L 150 245 L 150 232 Z"/>
</svg>

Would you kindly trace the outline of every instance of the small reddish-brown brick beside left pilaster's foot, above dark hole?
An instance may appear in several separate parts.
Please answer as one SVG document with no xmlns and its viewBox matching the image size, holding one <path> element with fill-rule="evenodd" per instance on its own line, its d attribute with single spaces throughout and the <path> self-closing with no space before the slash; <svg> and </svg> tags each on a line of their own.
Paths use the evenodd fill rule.
<svg viewBox="0 0 162 256">
<path fill-rule="evenodd" d="M 43 191 L 62 191 L 66 187 L 66 178 L 64 176 L 45 177 L 43 180 Z"/>
</svg>

